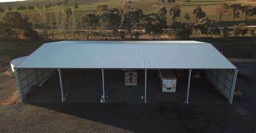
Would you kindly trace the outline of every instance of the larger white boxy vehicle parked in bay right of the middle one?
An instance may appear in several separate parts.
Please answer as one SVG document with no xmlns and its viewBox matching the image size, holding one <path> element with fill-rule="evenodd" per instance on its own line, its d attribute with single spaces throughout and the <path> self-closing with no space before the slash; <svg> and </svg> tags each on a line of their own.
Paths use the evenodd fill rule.
<svg viewBox="0 0 256 133">
<path fill-rule="evenodd" d="M 177 78 L 172 70 L 158 70 L 162 92 L 176 92 Z"/>
</svg>

